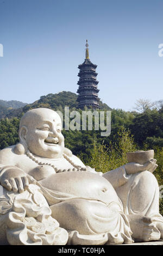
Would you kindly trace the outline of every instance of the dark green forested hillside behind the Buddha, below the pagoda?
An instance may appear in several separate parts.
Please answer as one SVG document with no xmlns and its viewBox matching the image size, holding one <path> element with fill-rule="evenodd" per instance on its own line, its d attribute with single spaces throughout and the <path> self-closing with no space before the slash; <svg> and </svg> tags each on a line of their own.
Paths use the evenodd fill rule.
<svg viewBox="0 0 163 256">
<path fill-rule="evenodd" d="M 48 94 L 41 96 L 39 100 L 32 104 L 28 104 L 22 108 L 11 109 L 10 113 L 4 114 L 4 118 L 0 121 L 1 137 L 0 149 L 7 145 L 11 145 L 17 141 L 18 121 L 29 109 L 46 107 L 59 110 L 64 114 L 65 106 L 72 110 L 77 109 L 77 94 L 71 92 L 61 92 L 58 94 Z M 101 110 L 110 110 L 111 108 L 100 102 Z M 0 107 L 0 112 L 4 107 Z M 81 112 L 82 113 L 82 112 Z M 6 119 L 7 118 L 7 119 Z M 82 118 L 82 114 L 81 114 Z M 144 145 L 152 147 L 163 147 L 163 108 L 159 110 L 147 109 L 144 113 L 126 112 L 122 109 L 111 110 L 111 134 L 108 137 L 101 137 L 101 131 L 63 131 L 65 134 L 65 142 L 68 147 L 75 153 L 81 152 L 89 156 L 93 141 L 109 145 L 110 142 L 115 144 L 117 142 L 118 131 L 121 127 L 129 130 L 130 134 L 134 136 L 134 142 L 137 147 L 142 148 Z M 77 143 L 78 141 L 78 143 Z"/>
</svg>

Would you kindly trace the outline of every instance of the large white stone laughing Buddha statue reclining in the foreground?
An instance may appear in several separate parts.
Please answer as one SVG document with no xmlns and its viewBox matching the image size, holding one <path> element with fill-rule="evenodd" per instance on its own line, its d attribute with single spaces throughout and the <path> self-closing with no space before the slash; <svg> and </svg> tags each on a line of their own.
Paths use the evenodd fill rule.
<svg viewBox="0 0 163 256">
<path fill-rule="evenodd" d="M 56 112 L 32 109 L 21 118 L 20 142 L 0 151 L 1 244 L 163 239 L 153 155 L 98 173 L 65 148 L 61 129 Z"/>
</svg>

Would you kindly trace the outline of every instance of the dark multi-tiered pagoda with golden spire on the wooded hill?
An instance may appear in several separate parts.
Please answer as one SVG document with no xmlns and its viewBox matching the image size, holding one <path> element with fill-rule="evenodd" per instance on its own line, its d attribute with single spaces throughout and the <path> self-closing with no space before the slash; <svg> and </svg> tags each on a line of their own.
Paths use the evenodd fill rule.
<svg viewBox="0 0 163 256">
<path fill-rule="evenodd" d="M 97 73 L 96 68 L 97 65 L 93 64 L 89 58 L 89 48 L 86 40 L 86 50 L 85 50 L 85 60 L 83 64 L 78 66 L 79 74 L 78 76 L 79 81 L 78 85 L 79 88 L 77 90 L 78 99 L 78 107 L 83 109 L 85 106 L 96 109 L 99 108 L 99 97 L 98 92 L 99 89 L 97 88 L 98 81 L 96 80 Z"/>
</svg>

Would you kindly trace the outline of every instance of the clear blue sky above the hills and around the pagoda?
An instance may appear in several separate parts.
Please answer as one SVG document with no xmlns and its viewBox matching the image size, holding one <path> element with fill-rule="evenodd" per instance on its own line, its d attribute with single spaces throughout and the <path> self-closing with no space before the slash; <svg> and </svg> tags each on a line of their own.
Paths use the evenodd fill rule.
<svg viewBox="0 0 163 256">
<path fill-rule="evenodd" d="M 162 0 L 0 0 L 0 99 L 76 93 L 86 39 L 103 102 L 163 98 Z"/>
</svg>

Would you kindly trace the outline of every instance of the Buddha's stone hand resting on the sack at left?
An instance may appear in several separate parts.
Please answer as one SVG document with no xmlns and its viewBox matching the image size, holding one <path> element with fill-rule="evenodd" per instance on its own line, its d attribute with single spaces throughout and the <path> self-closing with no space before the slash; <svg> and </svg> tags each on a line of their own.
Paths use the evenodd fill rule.
<svg viewBox="0 0 163 256">
<path fill-rule="evenodd" d="M 26 173 L 15 166 L 10 166 L 9 168 L 2 170 L 2 174 L 0 174 L 0 182 L 7 190 L 19 193 L 22 193 L 29 186 Z"/>
</svg>

